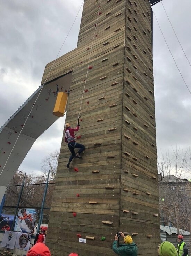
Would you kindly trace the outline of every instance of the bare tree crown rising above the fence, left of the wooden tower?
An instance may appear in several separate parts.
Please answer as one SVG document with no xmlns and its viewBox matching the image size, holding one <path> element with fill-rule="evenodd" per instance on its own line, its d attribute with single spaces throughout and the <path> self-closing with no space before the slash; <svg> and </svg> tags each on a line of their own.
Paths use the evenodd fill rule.
<svg viewBox="0 0 191 256">
<path fill-rule="evenodd" d="M 48 171 L 50 170 L 50 179 L 52 181 L 54 181 L 56 177 L 59 153 L 60 152 L 56 150 L 42 159 L 42 171 L 45 175 L 48 175 Z"/>
</svg>

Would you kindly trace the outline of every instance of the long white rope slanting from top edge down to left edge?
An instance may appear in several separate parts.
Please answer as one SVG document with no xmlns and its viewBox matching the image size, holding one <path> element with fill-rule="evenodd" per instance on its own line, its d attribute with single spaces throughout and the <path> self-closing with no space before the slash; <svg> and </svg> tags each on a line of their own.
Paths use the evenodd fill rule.
<svg viewBox="0 0 191 256">
<path fill-rule="evenodd" d="M 80 9 L 82 8 L 83 3 L 84 3 L 84 0 L 82 1 L 82 4 L 81 4 L 81 6 L 80 6 Z M 66 36 L 66 38 L 65 38 L 65 40 L 64 40 L 64 42 L 63 42 L 63 44 L 61 45 L 58 54 L 56 55 L 55 61 L 53 62 L 52 66 L 51 66 L 51 68 L 50 68 L 50 71 L 49 71 L 49 73 L 48 73 L 48 75 L 47 75 L 47 78 L 45 79 L 43 85 L 41 85 L 42 87 L 41 87 L 41 89 L 40 89 L 40 92 L 39 92 L 39 94 L 38 94 L 38 96 L 37 96 L 37 98 L 36 98 L 36 100 L 35 100 L 35 102 L 34 102 L 32 108 L 31 108 L 31 110 L 30 110 L 30 112 L 29 112 L 29 114 L 28 114 L 28 116 L 27 116 L 27 118 L 26 118 L 26 120 L 25 120 L 25 122 L 24 122 L 24 124 L 23 124 L 22 129 L 20 130 L 20 133 L 19 133 L 19 135 L 18 135 L 18 137 L 17 137 L 17 139 L 16 139 L 16 141 L 15 141 L 15 144 L 13 145 L 13 148 L 11 149 L 11 152 L 10 152 L 10 154 L 9 154 L 9 156 L 8 156 L 8 158 L 7 158 L 7 160 L 6 160 L 6 162 L 5 162 L 5 165 L 3 166 L 3 169 L 2 169 L 2 171 L 1 171 L 1 173 L 0 173 L 0 176 L 1 176 L 2 172 L 3 172 L 3 170 L 5 169 L 5 166 L 6 166 L 8 160 L 9 160 L 9 158 L 10 158 L 11 153 L 13 152 L 13 150 L 14 150 L 14 148 L 15 148 L 15 145 L 16 145 L 16 143 L 17 143 L 19 137 L 20 137 L 20 134 L 22 133 L 23 128 L 25 127 L 25 124 L 26 124 L 26 122 L 27 122 L 27 120 L 28 120 L 28 118 L 29 118 L 29 116 L 30 116 L 30 114 L 31 114 L 31 112 L 32 112 L 32 110 L 33 110 L 33 108 L 34 108 L 34 106 L 35 106 L 35 103 L 36 103 L 36 101 L 38 100 L 38 98 L 39 98 L 39 96 L 40 96 L 40 93 L 41 93 L 41 91 L 42 91 L 42 89 L 43 89 L 43 87 L 44 87 L 44 84 L 46 83 L 46 81 L 47 81 L 47 79 L 48 79 L 48 77 L 49 77 L 49 75 L 50 75 L 50 72 L 51 72 L 53 66 L 55 65 L 55 62 L 56 62 L 56 60 L 57 60 L 57 58 L 58 58 L 58 55 L 59 55 L 59 53 L 60 53 L 60 51 L 61 51 L 61 49 L 62 49 L 62 47 L 63 47 L 63 45 L 64 45 L 64 43 L 65 43 L 65 41 L 66 41 L 66 39 L 67 39 L 67 37 L 68 37 L 70 31 L 71 31 L 72 28 L 73 28 L 73 25 L 74 25 L 74 23 L 75 23 L 75 21 L 76 21 L 76 18 L 77 18 L 77 16 L 78 16 L 79 12 L 80 12 L 80 9 L 78 10 L 78 13 L 77 13 L 77 15 L 76 15 L 76 17 L 75 17 L 75 19 L 74 19 L 73 24 L 72 24 L 72 27 L 71 27 L 70 30 L 68 31 L 68 34 L 67 34 L 67 36 Z"/>
</svg>

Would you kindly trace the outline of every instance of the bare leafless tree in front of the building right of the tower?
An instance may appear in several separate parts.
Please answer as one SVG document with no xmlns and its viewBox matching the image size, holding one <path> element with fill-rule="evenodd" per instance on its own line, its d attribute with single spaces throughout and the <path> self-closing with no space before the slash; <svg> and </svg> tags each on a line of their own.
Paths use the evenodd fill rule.
<svg viewBox="0 0 191 256">
<path fill-rule="evenodd" d="M 190 229 L 191 184 L 185 179 L 191 174 L 190 151 L 177 148 L 161 153 L 158 160 L 160 216 L 163 223 Z"/>
</svg>

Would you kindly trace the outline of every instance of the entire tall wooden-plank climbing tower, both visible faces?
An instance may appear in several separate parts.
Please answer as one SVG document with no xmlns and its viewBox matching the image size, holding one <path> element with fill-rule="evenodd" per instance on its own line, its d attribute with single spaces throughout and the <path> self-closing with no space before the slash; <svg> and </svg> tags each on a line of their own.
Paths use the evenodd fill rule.
<svg viewBox="0 0 191 256">
<path fill-rule="evenodd" d="M 150 3 L 99 4 L 85 0 L 78 47 L 57 59 L 48 78 L 72 71 L 66 122 L 77 125 L 82 100 L 76 136 L 86 149 L 67 169 L 70 153 L 63 135 L 47 242 L 52 255 L 115 255 L 111 244 L 120 230 L 132 235 L 139 255 L 157 255 Z"/>
</svg>

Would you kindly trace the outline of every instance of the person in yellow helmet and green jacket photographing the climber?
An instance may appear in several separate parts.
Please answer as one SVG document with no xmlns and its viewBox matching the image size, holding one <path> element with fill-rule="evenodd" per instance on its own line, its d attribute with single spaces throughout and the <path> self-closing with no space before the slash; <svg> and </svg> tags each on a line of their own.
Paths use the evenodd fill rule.
<svg viewBox="0 0 191 256">
<path fill-rule="evenodd" d="M 119 237 L 124 238 L 124 243 L 118 244 Z M 124 235 L 122 232 L 117 232 L 115 241 L 112 244 L 113 251 L 121 256 L 137 256 L 137 245 L 133 242 L 130 235 Z"/>
</svg>

